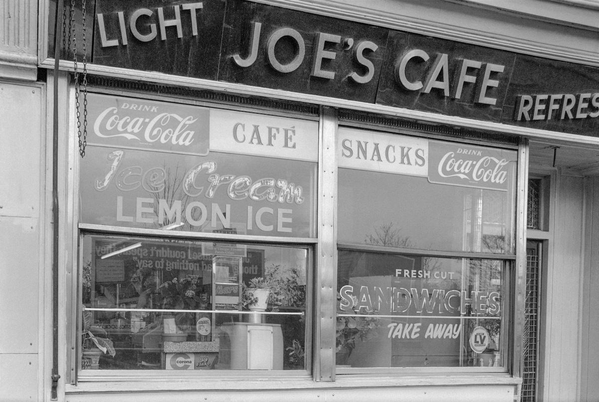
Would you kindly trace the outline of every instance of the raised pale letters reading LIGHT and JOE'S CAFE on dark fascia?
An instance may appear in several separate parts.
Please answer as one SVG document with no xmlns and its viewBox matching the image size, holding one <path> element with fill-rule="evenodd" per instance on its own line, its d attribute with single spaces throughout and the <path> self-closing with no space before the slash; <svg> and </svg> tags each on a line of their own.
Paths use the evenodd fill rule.
<svg viewBox="0 0 599 402">
<path fill-rule="evenodd" d="M 174 29 L 177 38 L 183 37 L 183 23 L 189 20 L 191 24 L 190 35 L 198 35 L 198 18 L 204 11 L 202 2 L 176 4 L 171 6 L 174 18 L 165 18 L 165 8 L 157 7 L 155 10 L 150 8 L 138 8 L 129 14 L 126 19 L 123 11 L 117 11 L 116 19 L 114 16 L 104 16 L 104 13 L 96 14 L 98 22 L 98 31 L 101 39 L 101 47 L 113 47 L 117 45 L 126 46 L 129 44 L 129 33 L 133 38 L 141 42 L 150 42 L 155 39 L 165 41 L 167 39 L 167 29 Z M 169 10 L 171 11 L 171 10 Z M 146 28 L 140 32 L 138 25 L 143 25 L 141 21 L 146 21 Z M 150 23 L 147 23 L 150 20 Z M 108 22 L 110 21 L 110 22 Z M 119 37 L 107 37 L 107 23 L 115 26 L 116 29 L 111 32 L 118 32 Z M 158 29 L 157 29 L 158 26 Z M 249 47 L 244 49 L 244 54 L 233 54 L 231 60 L 235 65 L 241 68 L 249 68 L 254 65 L 259 55 L 264 54 L 268 65 L 275 71 L 288 74 L 296 71 L 306 60 L 310 62 L 310 77 L 316 77 L 325 80 L 333 80 L 335 71 L 332 67 L 337 60 L 339 53 L 352 51 L 353 62 L 357 66 L 356 70 L 347 74 L 347 79 L 356 84 L 367 84 L 375 76 L 375 66 L 373 63 L 376 52 L 379 51 L 379 45 L 364 38 L 343 38 L 341 35 L 332 32 L 312 32 L 311 37 L 300 33 L 297 29 L 289 26 L 283 26 L 273 32 L 268 33 L 268 37 L 262 42 L 264 48 L 259 47 L 261 35 L 264 35 L 262 23 L 253 21 L 249 32 L 245 33 L 249 40 Z M 291 61 L 283 63 L 277 58 L 275 48 L 282 40 L 291 41 L 296 49 Z M 310 46 L 307 45 L 311 43 Z M 313 48 L 312 57 L 308 57 L 307 50 Z M 397 84 L 409 91 L 418 91 L 420 93 L 430 93 L 431 90 L 438 90 L 443 96 L 452 99 L 461 99 L 462 91 L 465 85 L 473 84 L 476 86 L 476 96 L 474 103 L 483 103 L 495 105 L 497 99 L 488 95 L 488 90 L 498 87 L 500 81 L 496 76 L 503 73 L 505 66 L 486 62 L 485 60 L 456 59 L 459 63 L 457 72 L 453 80 L 450 80 L 450 55 L 447 53 L 437 53 L 434 60 L 426 51 L 416 48 L 407 50 L 395 64 L 395 81 Z M 428 72 L 425 77 L 409 78 L 410 66 L 415 63 L 429 63 Z M 328 68 L 325 67 L 328 66 Z M 452 66 L 453 67 L 453 66 Z"/>
</svg>

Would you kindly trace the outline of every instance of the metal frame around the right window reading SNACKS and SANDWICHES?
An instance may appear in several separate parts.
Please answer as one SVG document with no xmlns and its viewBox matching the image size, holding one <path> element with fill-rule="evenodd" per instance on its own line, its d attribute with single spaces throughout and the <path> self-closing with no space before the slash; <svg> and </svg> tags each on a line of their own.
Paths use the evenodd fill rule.
<svg viewBox="0 0 599 402">
<path fill-rule="evenodd" d="M 349 114 L 349 117 L 348 117 Z M 358 115 L 358 112 L 356 112 Z M 336 115 L 335 115 L 336 117 Z M 347 375 L 391 375 L 391 376 L 401 376 L 410 373 L 418 373 L 418 374 L 441 374 L 441 373 L 458 373 L 458 374 L 511 374 L 512 376 L 519 376 L 519 362 L 521 361 L 521 348 L 522 348 L 522 323 L 524 322 L 524 312 L 519 312 L 518 306 L 524 306 L 524 294 L 525 294 L 525 281 L 523 281 L 523 276 L 525 272 L 525 255 L 523 257 L 523 249 L 525 252 L 525 230 L 526 230 L 526 217 L 525 217 L 525 206 L 527 202 L 527 197 L 525 193 L 525 188 L 527 185 L 527 173 L 528 173 L 528 140 L 526 138 L 518 138 L 516 143 L 509 143 L 505 141 L 497 141 L 493 139 L 491 133 L 488 133 L 486 139 L 472 139 L 472 138 L 464 138 L 464 137 L 454 137 L 447 135 L 439 135 L 435 132 L 427 132 L 426 129 L 390 129 L 385 121 L 378 123 L 371 123 L 368 121 L 368 118 L 360 121 L 360 119 L 356 116 L 355 120 L 352 118 L 352 112 L 344 112 L 343 118 L 338 118 L 335 120 L 336 127 L 344 126 L 352 129 L 363 129 L 363 130 L 373 130 L 376 132 L 389 133 L 389 134 L 399 134 L 399 135 L 408 135 L 415 136 L 426 139 L 440 140 L 440 141 L 450 141 L 450 142 L 461 142 L 462 144 L 473 144 L 479 145 L 483 147 L 495 147 L 495 148 L 503 148 L 506 150 L 517 151 L 517 161 L 516 161 L 516 178 L 515 178 L 515 202 L 513 208 L 513 223 L 514 232 L 512 236 L 514 237 L 515 243 L 515 254 L 489 254 L 482 252 L 460 252 L 460 251 L 436 251 L 436 250 L 423 250 L 423 249 L 405 249 L 405 248 L 391 248 L 384 246 L 372 246 L 365 245 L 361 243 L 349 243 L 349 242 L 338 242 L 336 232 L 335 232 L 335 257 L 337 256 L 338 249 L 347 249 L 352 251 L 383 251 L 383 252 L 395 252 L 397 254 L 415 254 L 415 255 L 425 255 L 425 256 L 435 256 L 435 257 L 456 257 L 456 258 L 491 258 L 494 260 L 502 260 L 507 263 L 508 269 L 506 270 L 506 295 L 502 299 L 505 299 L 504 307 L 506 307 L 505 314 L 506 318 L 504 319 L 503 327 L 505 329 L 504 335 L 502 336 L 502 344 L 503 344 L 503 366 L 498 368 L 476 368 L 476 367 L 431 367 L 422 369 L 419 367 L 409 367 L 409 368 L 339 368 L 336 370 L 337 374 Z M 373 118 L 376 120 L 376 117 Z M 327 148 L 323 150 L 323 154 L 325 157 L 328 156 L 329 159 L 335 160 L 335 172 L 337 172 L 337 131 L 335 131 L 335 139 L 332 141 L 331 148 Z M 336 176 L 336 174 L 335 174 Z M 337 188 L 337 179 L 335 177 L 334 181 L 335 187 L 335 203 L 338 199 L 338 188 Z M 335 227 L 337 227 L 337 215 L 335 208 Z M 337 291 L 337 258 L 335 258 L 335 281 L 332 284 L 335 291 Z M 334 316 L 336 313 L 334 312 Z M 334 337 L 334 331 L 333 331 Z M 335 349 L 335 344 L 333 343 L 333 350 Z M 332 356 L 333 360 L 335 359 L 335 354 Z M 474 369 L 474 370 L 473 370 Z"/>
</svg>

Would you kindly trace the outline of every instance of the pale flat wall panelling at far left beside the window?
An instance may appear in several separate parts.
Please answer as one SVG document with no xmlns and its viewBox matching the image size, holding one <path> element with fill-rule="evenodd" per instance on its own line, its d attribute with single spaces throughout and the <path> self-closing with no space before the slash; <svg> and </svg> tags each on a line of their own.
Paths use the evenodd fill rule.
<svg viewBox="0 0 599 402">
<path fill-rule="evenodd" d="M 2 4 L 6 11 L 8 5 Z M 12 8 L 10 10 L 13 10 Z M 11 14 L 11 18 L 16 17 Z M 6 32 L 5 32 L 6 33 Z M 0 83 L 0 401 L 36 401 L 40 362 L 41 89 Z"/>
</svg>

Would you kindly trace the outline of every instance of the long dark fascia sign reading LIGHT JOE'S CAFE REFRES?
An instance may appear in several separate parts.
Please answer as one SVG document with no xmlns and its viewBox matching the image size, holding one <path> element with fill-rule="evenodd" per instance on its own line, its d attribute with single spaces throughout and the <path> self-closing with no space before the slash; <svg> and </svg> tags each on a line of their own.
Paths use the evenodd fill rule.
<svg viewBox="0 0 599 402">
<path fill-rule="evenodd" d="M 245 0 L 94 3 L 94 64 L 597 136 L 591 66 Z"/>
</svg>

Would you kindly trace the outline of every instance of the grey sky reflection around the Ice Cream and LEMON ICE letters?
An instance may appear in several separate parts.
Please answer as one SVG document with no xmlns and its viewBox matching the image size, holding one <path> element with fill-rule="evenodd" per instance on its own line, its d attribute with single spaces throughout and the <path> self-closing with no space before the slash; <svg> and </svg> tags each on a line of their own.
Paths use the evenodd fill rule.
<svg viewBox="0 0 599 402">
<path fill-rule="evenodd" d="M 231 223 L 233 227 L 237 227 L 240 233 L 271 235 L 271 236 L 308 236 L 308 226 L 312 224 L 314 211 L 314 188 L 316 186 L 316 164 L 308 162 L 298 162 L 292 160 L 280 160 L 273 158 L 252 157 L 244 155 L 234 155 L 225 153 L 210 153 L 206 157 L 190 156 L 183 154 L 170 154 L 161 152 L 139 151 L 139 150 L 123 150 L 124 156 L 117 168 L 116 175 L 111 179 L 110 184 L 104 191 L 97 191 L 93 187 L 96 181 L 103 181 L 113 160 L 108 160 L 107 156 L 116 148 L 93 147 L 87 148 L 86 157 L 81 163 L 80 173 L 80 194 L 81 194 L 81 221 L 84 223 L 107 224 L 114 226 L 134 226 L 148 227 L 156 229 L 161 225 L 148 223 L 125 223 L 116 221 L 116 199 L 117 196 L 123 196 L 123 215 L 128 217 L 135 216 L 135 198 L 155 198 L 158 194 L 160 198 L 167 199 L 169 204 L 172 200 L 182 200 L 183 202 L 183 217 L 184 205 L 186 202 L 199 201 L 207 207 L 208 219 L 211 218 L 211 204 L 217 203 L 222 211 L 225 211 L 226 204 L 231 205 Z M 218 175 L 233 175 L 233 176 L 249 176 L 252 181 L 257 181 L 262 178 L 285 179 L 295 185 L 302 187 L 302 197 L 304 202 L 301 205 L 297 203 L 279 203 L 269 202 L 267 200 L 256 202 L 253 200 L 232 200 L 228 197 L 227 184 L 220 185 L 217 188 L 213 198 L 205 197 L 205 192 L 210 185 L 208 176 L 210 174 L 202 170 L 196 179 L 196 185 L 204 186 L 204 191 L 198 197 L 186 199 L 181 188 L 181 181 L 187 171 L 194 168 L 203 162 L 216 162 L 216 171 L 210 174 Z M 122 191 L 116 186 L 116 178 L 119 173 L 125 168 L 140 166 L 143 172 L 150 168 L 163 168 L 167 170 L 166 183 L 171 187 L 167 190 L 152 193 L 144 190 L 143 187 L 138 187 L 132 191 Z M 138 176 L 132 176 L 128 182 L 134 182 L 139 179 Z M 277 194 L 279 193 L 277 188 Z M 196 191 L 195 189 L 193 191 Z M 158 203 L 156 202 L 156 205 Z M 292 233 L 276 232 L 277 223 L 273 220 L 270 214 L 262 215 L 264 224 L 273 224 L 273 232 L 262 232 L 256 224 L 253 225 L 253 232 L 247 232 L 247 205 L 253 206 L 253 211 L 256 213 L 261 207 L 274 209 L 276 215 L 277 208 L 292 209 L 292 224 L 285 224 L 293 228 Z M 195 209 L 199 211 L 199 209 Z M 289 216 L 289 215 L 288 215 Z M 183 218 L 184 219 L 184 218 Z M 213 228 L 208 223 L 208 231 Z M 313 226 L 313 224 L 311 225 Z M 198 227 L 181 228 L 183 230 L 197 231 Z M 222 229 L 222 226 L 217 224 L 216 229 Z M 205 230 L 205 229 L 204 229 Z"/>
</svg>

